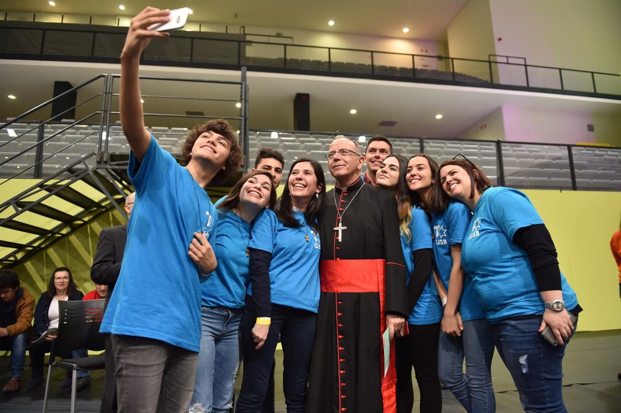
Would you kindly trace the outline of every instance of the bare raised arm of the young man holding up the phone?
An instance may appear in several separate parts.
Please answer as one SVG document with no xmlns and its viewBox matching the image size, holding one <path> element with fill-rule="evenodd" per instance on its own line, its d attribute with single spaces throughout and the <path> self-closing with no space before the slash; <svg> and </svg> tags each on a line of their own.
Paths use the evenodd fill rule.
<svg viewBox="0 0 621 413">
<path fill-rule="evenodd" d="M 140 53 L 145 50 L 153 37 L 170 36 L 166 32 L 147 30 L 147 27 L 152 24 L 168 22 L 169 15 L 170 10 L 160 10 L 154 7 L 147 7 L 137 14 L 132 19 L 123 51 L 120 53 L 120 122 L 127 143 L 132 148 L 132 153 L 138 163 L 142 162 L 151 139 L 145 128 L 142 103 L 140 103 L 140 81 L 138 79 Z"/>
</svg>

